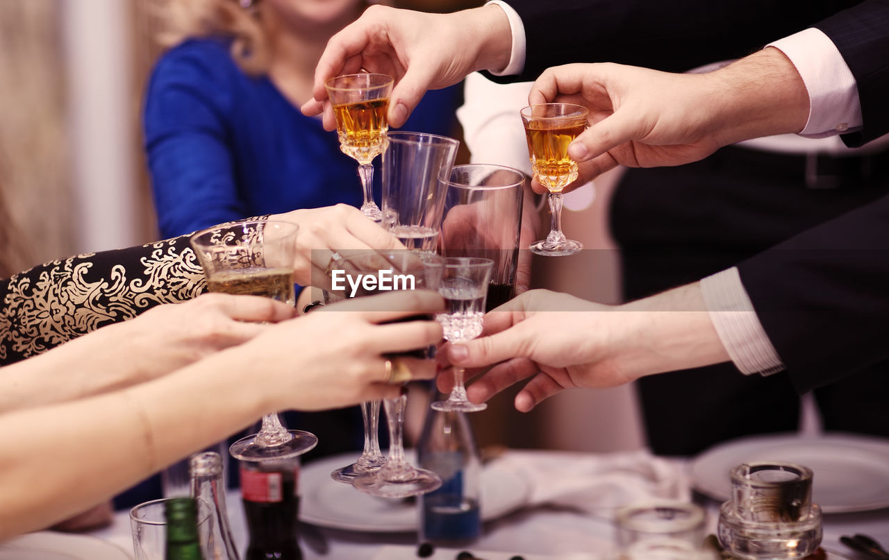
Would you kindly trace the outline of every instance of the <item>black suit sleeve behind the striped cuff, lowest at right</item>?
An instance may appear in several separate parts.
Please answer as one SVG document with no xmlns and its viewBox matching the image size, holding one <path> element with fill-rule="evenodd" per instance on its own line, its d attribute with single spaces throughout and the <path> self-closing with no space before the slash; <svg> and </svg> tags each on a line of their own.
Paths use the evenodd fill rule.
<svg viewBox="0 0 889 560">
<path fill-rule="evenodd" d="M 738 269 L 801 393 L 889 357 L 889 196 Z"/>
</svg>

